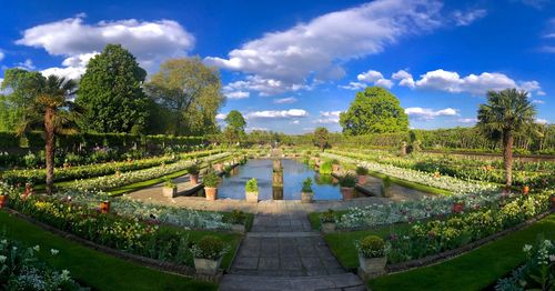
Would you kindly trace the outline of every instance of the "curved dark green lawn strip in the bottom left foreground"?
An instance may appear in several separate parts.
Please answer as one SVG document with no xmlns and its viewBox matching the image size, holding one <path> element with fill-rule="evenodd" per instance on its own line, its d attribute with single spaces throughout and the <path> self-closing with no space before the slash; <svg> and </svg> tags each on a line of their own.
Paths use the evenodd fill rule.
<svg viewBox="0 0 555 291">
<path fill-rule="evenodd" d="M 40 257 L 57 269 L 67 269 L 83 285 L 93 290 L 216 290 L 215 284 L 198 282 L 184 277 L 110 257 L 47 232 L 27 221 L 0 211 L 1 231 L 8 238 L 26 245 L 39 244 Z M 52 257 L 50 249 L 60 253 Z"/>
</svg>

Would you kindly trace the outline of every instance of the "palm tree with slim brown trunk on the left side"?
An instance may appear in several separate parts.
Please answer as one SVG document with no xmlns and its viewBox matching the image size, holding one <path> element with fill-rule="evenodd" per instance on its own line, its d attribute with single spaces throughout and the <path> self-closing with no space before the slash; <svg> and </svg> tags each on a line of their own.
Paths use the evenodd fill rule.
<svg viewBox="0 0 555 291">
<path fill-rule="evenodd" d="M 79 113 L 70 97 L 75 93 L 77 83 L 71 79 L 49 76 L 34 82 L 30 91 L 34 98 L 24 109 L 19 134 L 32 128 L 41 128 L 44 132 L 44 152 L 47 158 L 47 193 L 52 193 L 54 177 L 54 134 L 73 131 L 72 121 Z"/>
</svg>

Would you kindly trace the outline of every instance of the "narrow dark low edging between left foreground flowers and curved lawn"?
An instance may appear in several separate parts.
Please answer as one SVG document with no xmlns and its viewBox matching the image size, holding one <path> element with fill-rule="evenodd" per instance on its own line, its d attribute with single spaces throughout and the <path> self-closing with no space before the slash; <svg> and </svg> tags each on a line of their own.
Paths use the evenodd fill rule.
<svg viewBox="0 0 555 291">
<path fill-rule="evenodd" d="M 80 238 L 80 237 L 77 237 L 72 233 L 69 233 L 67 231 L 63 231 L 63 230 L 60 230 L 60 229 L 57 229 L 52 225 L 49 225 L 42 221 L 39 221 L 39 220 L 36 220 L 31 217 L 28 217 L 19 211 L 16 211 L 13 209 L 10 209 L 10 208 L 3 208 L 1 209 L 0 211 L 7 211 L 8 213 L 19 218 L 19 219 L 22 219 L 27 222 L 30 222 L 46 231 L 49 231 L 53 234 L 57 234 L 57 235 L 60 235 L 67 240 L 71 240 L 73 242 L 77 242 L 79 244 L 82 244 L 87 248 L 90 248 L 90 249 L 93 249 L 95 251 L 100 251 L 100 252 L 103 252 L 103 253 L 107 253 L 109 255 L 112 255 L 112 257 L 115 257 L 115 258 L 119 258 L 119 259 L 123 259 L 123 260 L 127 260 L 127 261 L 132 261 L 132 262 L 135 262 L 135 263 L 139 263 L 141 265 L 145 265 L 145 267 L 149 267 L 149 268 L 152 268 L 152 269 L 155 269 L 155 270 L 159 270 L 159 271 L 162 271 L 162 272 L 167 272 L 167 273 L 172 273 L 172 274 L 178 274 L 178 275 L 182 275 L 182 277 L 185 277 L 185 278 L 191 278 L 191 279 L 194 279 L 194 280 L 199 280 L 199 281 L 205 281 L 205 282 L 211 282 L 211 283 L 220 283 L 221 279 L 222 279 L 222 275 L 223 275 L 223 272 L 222 270 L 219 270 L 219 272 L 216 274 L 200 274 L 200 273 L 196 273 L 196 271 L 194 270 L 194 268 L 192 267 L 189 267 L 189 265 L 178 265 L 178 264 L 174 264 L 174 263 L 169 263 L 169 262 L 162 262 L 162 261 L 159 261 L 159 260 L 154 260 L 154 259 L 150 259 L 150 258 L 145 258 L 145 257 L 141 257 L 141 255 L 137 255 L 137 254 L 132 254 L 132 253 L 128 253 L 128 252 L 124 252 L 124 251 L 120 251 L 120 250 L 117 250 L 117 249 L 112 249 L 112 248 L 108 248 L 105 245 L 102 245 L 102 244 L 98 244 L 95 242 L 92 242 L 92 241 L 89 241 L 89 240 L 85 240 L 83 238 Z M 236 254 L 236 250 L 235 250 L 235 254 Z M 235 255 L 234 254 L 234 255 Z"/>
</svg>

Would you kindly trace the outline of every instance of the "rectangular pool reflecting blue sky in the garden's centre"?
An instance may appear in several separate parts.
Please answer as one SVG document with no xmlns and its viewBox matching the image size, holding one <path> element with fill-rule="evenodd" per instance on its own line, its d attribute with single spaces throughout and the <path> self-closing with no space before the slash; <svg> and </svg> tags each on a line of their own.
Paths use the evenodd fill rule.
<svg viewBox="0 0 555 291">
<path fill-rule="evenodd" d="M 256 178 L 259 200 L 301 200 L 304 179 L 312 179 L 314 200 L 342 200 L 341 188 L 332 175 L 321 175 L 299 160 L 281 159 L 283 165 L 283 188 L 273 188 L 273 160 L 252 159 L 223 177 L 218 188 L 219 199 L 245 199 L 245 183 Z M 356 191 L 355 191 L 356 192 Z M 361 195 L 355 193 L 355 195 Z"/>
</svg>

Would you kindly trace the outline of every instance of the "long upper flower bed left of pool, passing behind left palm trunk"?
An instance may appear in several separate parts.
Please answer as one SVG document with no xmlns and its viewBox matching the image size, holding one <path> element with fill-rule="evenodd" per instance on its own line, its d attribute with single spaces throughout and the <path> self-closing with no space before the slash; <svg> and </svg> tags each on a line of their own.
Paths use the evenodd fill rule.
<svg viewBox="0 0 555 291">
<path fill-rule="evenodd" d="M 117 172 L 137 171 L 162 164 L 171 164 L 181 160 L 189 160 L 202 158 L 210 154 L 220 153 L 222 150 L 199 151 L 175 155 L 165 155 L 158 158 L 148 158 L 141 160 L 129 160 L 124 162 L 108 162 L 98 164 L 88 164 L 80 167 L 60 168 L 56 169 L 54 182 L 70 181 L 75 179 L 88 179 L 100 175 L 114 174 Z M 0 178 L 11 184 L 24 184 L 30 182 L 32 184 L 43 183 L 47 179 L 47 171 L 44 169 L 31 170 L 10 170 L 0 174 Z"/>
</svg>

